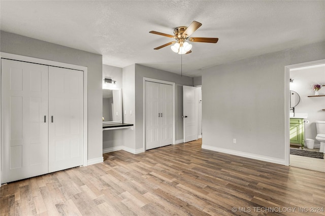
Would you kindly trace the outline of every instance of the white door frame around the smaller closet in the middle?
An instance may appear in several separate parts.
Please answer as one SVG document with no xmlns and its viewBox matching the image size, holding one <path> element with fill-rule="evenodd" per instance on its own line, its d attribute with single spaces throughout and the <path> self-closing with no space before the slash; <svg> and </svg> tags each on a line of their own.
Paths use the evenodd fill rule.
<svg viewBox="0 0 325 216">
<path fill-rule="evenodd" d="M 176 139 L 176 121 L 175 121 L 175 112 L 176 112 L 176 97 L 175 97 L 175 83 L 164 81 L 164 80 L 157 80 L 152 78 L 143 78 L 143 152 L 146 151 L 146 81 L 154 82 L 154 83 L 161 83 L 161 84 L 168 84 L 172 85 L 173 87 L 173 145 L 175 145 Z"/>
</svg>

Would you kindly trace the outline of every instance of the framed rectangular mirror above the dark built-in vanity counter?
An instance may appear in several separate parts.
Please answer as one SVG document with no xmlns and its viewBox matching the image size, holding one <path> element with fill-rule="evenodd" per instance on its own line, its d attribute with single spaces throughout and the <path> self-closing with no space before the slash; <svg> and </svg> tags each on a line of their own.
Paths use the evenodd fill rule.
<svg viewBox="0 0 325 216">
<path fill-rule="evenodd" d="M 103 89 L 103 125 L 122 123 L 120 89 Z"/>
</svg>

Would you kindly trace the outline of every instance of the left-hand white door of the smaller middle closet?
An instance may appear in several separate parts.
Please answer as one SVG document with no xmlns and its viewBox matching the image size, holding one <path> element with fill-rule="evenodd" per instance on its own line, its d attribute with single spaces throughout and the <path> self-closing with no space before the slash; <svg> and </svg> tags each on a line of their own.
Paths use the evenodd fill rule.
<svg viewBox="0 0 325 216">
<path fill-rule="evenodd" d="M 146 150 L 160 147 L 159 84 L 146 81 Z"/>
</svg>

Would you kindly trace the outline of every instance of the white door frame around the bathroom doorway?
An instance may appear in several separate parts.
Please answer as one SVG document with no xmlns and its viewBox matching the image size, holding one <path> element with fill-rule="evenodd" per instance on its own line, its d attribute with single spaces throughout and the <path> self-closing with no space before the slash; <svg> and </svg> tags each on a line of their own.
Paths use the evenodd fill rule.
<svg viewBox="0 0 325 216">
<path fill-rule="evenodd" d="M 290 91 L 290 69 L 313 66 L 317 64 L 325 64 L 325 59 L 308 61 L 298 64 L 290 64 L 284 67 L 284 165 L 290 165 L 290 118 L 289 118 L 289 91 Z"/>
</svg>

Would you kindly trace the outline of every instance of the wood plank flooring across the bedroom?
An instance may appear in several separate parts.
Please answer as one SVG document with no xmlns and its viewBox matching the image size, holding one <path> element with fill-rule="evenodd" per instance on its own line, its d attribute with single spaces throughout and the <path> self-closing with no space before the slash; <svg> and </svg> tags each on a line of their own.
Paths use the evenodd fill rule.
<svg viewBox="0 0 325 216">
<path fill-rule="evenodd" d="M 10 183 L 1 215 L 325 215 L 325 173 L 202 150 L 201 140 Z M 318 211 L 318 212 L 311 212 Z"/>
</svg>

